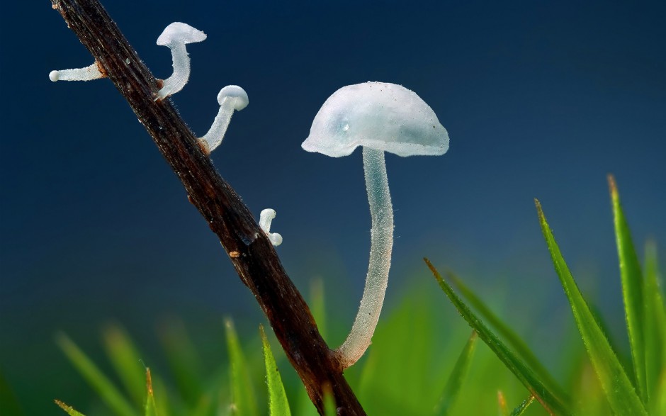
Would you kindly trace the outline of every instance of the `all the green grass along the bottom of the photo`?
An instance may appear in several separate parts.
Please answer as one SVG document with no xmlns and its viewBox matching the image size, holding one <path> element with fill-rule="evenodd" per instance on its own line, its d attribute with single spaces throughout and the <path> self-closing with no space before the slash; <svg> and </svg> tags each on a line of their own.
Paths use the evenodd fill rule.
<svg viewBox="0 0 666 416">
<path fill-rule="evenodd" d="M 498 412 L 507 416 L 611 412 L 666 415 L 666 305 L 660 288 L 657 250 L 653 243 L 645 247 L 641 273 L 612 181 L 611 201 L 631 348 L 631 364 L 626 364 L 626 369 L 606 338 L 601 324 L 603 317 L 594 312 L 594 305 L 589 305 L 577 288 L 537 202 L 546 245 L 578 330 L 572 330 L 561 341 L 564 352 L 556 365 L 569 369 L 565 380 L 555 380 L 518 332 L 462 279 L 451 273 L 443 279 L 427 262 L 455 310 L 473 328 L 472 336 L 468 337 L 469 329 L 463 320 L 455 319 L 453 308 L 442 308 L 441 295 L 436 296 L 431 288 L 416 288 L 402 296 L 401 304 L 384 314 L 366 356 L 345 372 L 366 412 L 369 415 Z M 320 329 L 334 329 L 335 325 L 325 325 L 330 320 L 324 308 L 321 280 L 312 283 L 310 299 Z M 255 348 L 259 344 L 256 339 L 241 342 L 230 320 L 225 321 L 225 334 L 227 359 L 220 354 L 214 365 L 204 367 L 201 363 L 210 359 L 202 359 L 184 325 L 173 322 L 164 327 L 161 335 L 171 383 L 144 369 L 139 349 L 117 325 L 103 330 L 104 349 L 115 378 L 104 374 L 66 336 L 61 335 L 57 341 L 115 415 L 290 415 L 288 398 L 298 410 L 295 414 L 316 415 L 286 356 L 281 350 L 273 355 L 263 328 L 260 330 L 263 359 Z M 468 339 L 461 351 L 465 337 Z M 572 342 L 577 337 L 582 339 L 585 349 Z M 483 343 L 476 342 L 477 339 Z M 262 378 L 259 374 L 265 376 L 265 388 L 259 388 Z M 0 377 L 0 398 L 8 394 L 5 387 Z M 535 400 L 540 405 L 531 405 Z M 511 407 L 507 403 L 519 402 L 509 412 Z M 69 415 L 81 416 L 72 407 L 56 403 Z M 325 393 L 324 409 L 326 415 L 336 414 L 332 396 Z"/>
</svg>

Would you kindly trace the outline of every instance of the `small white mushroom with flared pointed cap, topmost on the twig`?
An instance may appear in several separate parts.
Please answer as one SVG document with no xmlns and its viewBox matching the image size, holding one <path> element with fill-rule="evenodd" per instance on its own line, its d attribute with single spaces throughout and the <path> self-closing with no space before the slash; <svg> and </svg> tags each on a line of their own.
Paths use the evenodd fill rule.
<svg viewBox="0 0 666 416">
<path fill-rule="evenodd" d="M 205 40 L 206 35 L 186 23 L 174 22 L 164 28 L 162 35 L 157 38 L 157 45 L 166 46 L 171 49 L 174 73 L 171 77 L 164 79 L 162 89 L 157 91 L 155 101 L 163 100 L 171 94 L 183 89 L 190 77 L 190 57 L 187 55 L 185 45 Z"/>
</svg>

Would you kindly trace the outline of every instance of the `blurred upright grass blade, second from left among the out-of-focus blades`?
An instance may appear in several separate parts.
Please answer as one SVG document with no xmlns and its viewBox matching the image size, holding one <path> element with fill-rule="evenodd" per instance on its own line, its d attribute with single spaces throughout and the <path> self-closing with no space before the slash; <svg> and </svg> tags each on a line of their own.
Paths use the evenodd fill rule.
<svg viewBox="0 0 666 416">
<path fill-rule="evenodd" d="M 138 406 L 144 404 L 145 368 L 130 336 L 118 325 L 108 325 L 102 331 L 106 354 L 113 369 L 125 386 L 125 391 Z"/>
</svg>

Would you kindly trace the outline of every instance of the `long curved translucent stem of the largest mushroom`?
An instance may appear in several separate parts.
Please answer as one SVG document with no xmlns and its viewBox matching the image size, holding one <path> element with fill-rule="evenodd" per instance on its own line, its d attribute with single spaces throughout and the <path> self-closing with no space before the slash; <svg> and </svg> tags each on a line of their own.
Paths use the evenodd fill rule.
<svg viewBox="0 0 666 416">
<path fill-rule="evenodd" d="M 334 351 L 344 369 L 359 361 L 371 344 L 384 303 L 393 249 L 393 206 L 383 150 L 363 147 L 363 170 L 372 216 L 370 262 L 359 313 L 346 341 Z"/>
</svg>

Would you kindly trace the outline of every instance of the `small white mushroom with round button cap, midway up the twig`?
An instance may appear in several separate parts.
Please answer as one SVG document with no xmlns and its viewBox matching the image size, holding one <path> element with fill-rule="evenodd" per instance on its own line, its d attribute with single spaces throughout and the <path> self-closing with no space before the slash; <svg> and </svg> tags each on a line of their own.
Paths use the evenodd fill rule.
<svg viewBox="0 0 666 416">
<path fill-rule="evenodd" d="M 220 110 L 213 120 L 213 125 L 203 137 L 199 138 L 199 143 L 206 154 L 210 154 L 222 143 L 222 139 L 227 133 L 227 128 L 231 121 L 234 110 L 240 111 L 247 107 L 249 99 L 247 92 L 237 85 L 227 85 L 218 93 L 218 103 Z"/>
</svg>

